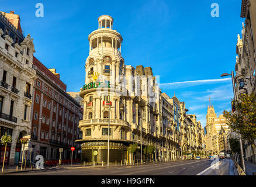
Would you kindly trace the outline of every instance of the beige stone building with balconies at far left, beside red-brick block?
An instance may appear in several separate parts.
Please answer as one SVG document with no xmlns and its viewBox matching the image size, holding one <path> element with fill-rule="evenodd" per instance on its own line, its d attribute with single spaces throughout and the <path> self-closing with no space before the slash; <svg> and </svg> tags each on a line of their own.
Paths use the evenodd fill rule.
<svg viewBox="0 0 256 187">
<path fill-rule="evenodd" d="M 29 138 L 31 129 L 33 39 L 23 36 L 19 15 L 0 12 L 0 134 L 11 135 L 5 163 L 18 164 L 21 153 L 19 139 Z M 1 147 L 1 150 L 3 148 Z M 1 164 L 4 151 L 1 151 Z"/>
</svg>

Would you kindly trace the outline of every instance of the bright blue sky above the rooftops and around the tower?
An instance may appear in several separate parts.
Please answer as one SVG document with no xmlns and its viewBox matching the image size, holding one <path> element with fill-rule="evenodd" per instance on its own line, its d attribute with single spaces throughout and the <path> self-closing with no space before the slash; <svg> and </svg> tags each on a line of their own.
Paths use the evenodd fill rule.
<svg viewBox="0 0 256 187">
<path fill-rule="evenodd" d="M 44 17 L 35 16 L 36 4 Z M 210 15 L 219 4 L 219 18 Z M 219 79 L 234 70 L 237 34 L 241 35 L 241 0 L 197 1 L 2 1 L 1 11 L 20 15 L 25 35 L 34 39 L 36 56 L 47 68 L 56 68 L 67 91 L 84 84 L 88 34 L 98 29 L 98 17 L 114 18 L 113 29 L 123 37 L 126 65 L 151 66 L 160 75 L 162 92 L 184 101 L 190 114 L 205 126 L 209 96 L 217 115 L 231 108 L 231 80 Z"/>
</svg>

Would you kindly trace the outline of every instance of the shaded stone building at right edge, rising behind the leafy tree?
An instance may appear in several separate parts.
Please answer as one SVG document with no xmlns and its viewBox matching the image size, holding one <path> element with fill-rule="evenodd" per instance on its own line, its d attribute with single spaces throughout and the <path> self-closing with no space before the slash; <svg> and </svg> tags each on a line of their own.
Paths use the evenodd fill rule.
<svg viewBox="0 0 256 187">
<path fill-rule="evenodd" d="M 237 36 L 236 47 L 236 94 L 256 93 L 256 2 L 252 0 L 241 1 L 241 18 L 245 18 L 243 29 Z M 237 137 L 236 133 L 230 134 Z M 255 140 L 256 141 L 256 140 Z M 245 157 L 247 160 L 256 162 L 256 155 L 252 155 L 252 149 L 256 148 L 244 140 Z"/>
</svg>

